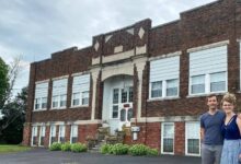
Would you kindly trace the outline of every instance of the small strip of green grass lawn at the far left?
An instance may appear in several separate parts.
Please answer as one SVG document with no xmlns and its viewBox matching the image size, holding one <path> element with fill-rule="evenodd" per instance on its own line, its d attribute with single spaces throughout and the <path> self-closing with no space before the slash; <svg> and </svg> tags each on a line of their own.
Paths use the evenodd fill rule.
<svg viewBox="0 0 241 164">
<path fill-rule="evenodd" d="M 12 153 L 12 152 L 22 152 L 31 150 L 30 147 L 23 147 L 18 144 L 0 144 L 0 154 L 2 153 Z"/>
</svg>

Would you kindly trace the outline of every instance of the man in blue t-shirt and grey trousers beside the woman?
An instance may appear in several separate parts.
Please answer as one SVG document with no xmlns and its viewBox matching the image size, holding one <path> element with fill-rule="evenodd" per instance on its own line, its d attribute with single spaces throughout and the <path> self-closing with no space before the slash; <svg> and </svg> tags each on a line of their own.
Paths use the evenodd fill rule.
<svg viewBox="0 0 241 164">
<path fill-rule="evenodd" d="M 202 164 L 219 164 L 223 144 L 221 125 L 225 113 L 218 109 L 217 96 L 207 96 L 208 112 L 200 116 Z"/>
</svg>

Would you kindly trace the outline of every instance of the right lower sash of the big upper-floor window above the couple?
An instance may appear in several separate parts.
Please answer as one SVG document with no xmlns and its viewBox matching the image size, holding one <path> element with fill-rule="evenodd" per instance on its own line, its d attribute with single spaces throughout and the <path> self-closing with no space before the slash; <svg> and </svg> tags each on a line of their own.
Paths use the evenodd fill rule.
<svg viewBox="0 0 241 164">
<path fill-rule="evenodd" d="M 226 91 L 226 72 L 210 74 L 210 92 Z"/>
</svg>

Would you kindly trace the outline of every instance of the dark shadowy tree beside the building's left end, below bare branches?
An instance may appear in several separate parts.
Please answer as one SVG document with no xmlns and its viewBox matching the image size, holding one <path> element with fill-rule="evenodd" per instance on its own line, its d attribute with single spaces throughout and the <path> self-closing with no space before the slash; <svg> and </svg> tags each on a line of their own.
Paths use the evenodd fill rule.
<svg viewBox="0 0 241 164">
<path fill-rule="evenodd" d="M 12 102 L 4 105 L 3 118 L 0 120 L 0 137 L 7 143 L 20 143 L 23 136 L 23 124 L 25 121 L 27 101 L 27 87 L 22 89 Z"/>
</svg>

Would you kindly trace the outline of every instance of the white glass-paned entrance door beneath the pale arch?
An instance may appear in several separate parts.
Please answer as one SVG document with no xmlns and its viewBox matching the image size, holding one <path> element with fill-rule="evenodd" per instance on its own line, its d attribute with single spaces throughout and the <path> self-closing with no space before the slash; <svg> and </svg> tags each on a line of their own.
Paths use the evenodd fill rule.
<svg viewBox="0 0 241 164">
<path fill-rule="evenodd" d="M 111 133 L 122 130 L 123 125 L 130 126 L 133 117 L 133 86 L 115 87 L 112 90 L 110 115 Z"/>
</svg>

